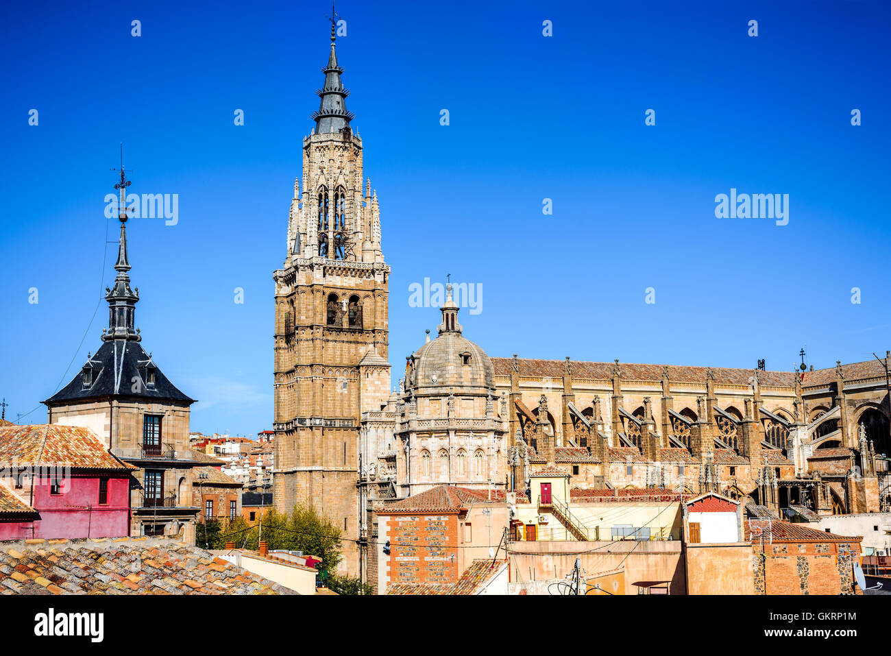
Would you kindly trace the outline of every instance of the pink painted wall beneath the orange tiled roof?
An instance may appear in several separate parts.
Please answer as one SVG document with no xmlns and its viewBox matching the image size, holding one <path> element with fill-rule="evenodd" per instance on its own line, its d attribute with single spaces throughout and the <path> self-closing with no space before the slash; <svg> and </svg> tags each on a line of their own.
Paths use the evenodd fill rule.
<svg viewBox="0 0 891 656">
<path fill-rule="evenodd" d="M 108 503 L 99 504 L 95 474 L 64 479 L 61 494 L 50 494 L 50 480 L 37 479 L 31 507 L 39 512 L 33 522 L 0 522 L 0 537 L 123 537 L 129 532 L 130 478 L 109 478 Z M 90 506 L 92 505 L 92 509 Z"/>
</svg>

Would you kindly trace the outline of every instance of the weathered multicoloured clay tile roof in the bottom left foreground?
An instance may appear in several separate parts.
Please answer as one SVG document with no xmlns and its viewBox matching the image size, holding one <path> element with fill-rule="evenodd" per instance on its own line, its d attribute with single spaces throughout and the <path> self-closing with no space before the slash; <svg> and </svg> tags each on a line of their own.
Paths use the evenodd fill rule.
<svg viewBox="0 0 891 656">
<path fill-rule="evenodd" d="M 296 594 L 171 540 L 0 543 L 0 594 Z"/>
</svg>

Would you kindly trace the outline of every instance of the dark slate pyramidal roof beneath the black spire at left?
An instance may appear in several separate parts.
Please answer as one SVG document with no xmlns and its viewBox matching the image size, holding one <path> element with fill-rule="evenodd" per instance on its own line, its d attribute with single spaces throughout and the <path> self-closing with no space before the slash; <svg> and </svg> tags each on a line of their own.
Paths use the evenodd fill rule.
<svg viewBox="0 0 891 656">
<path fill-rule="evenodd" d="M 83 379 L 78 371 L 68 385 L 53 394 L 52 397 L 47 398 L 44 403 L 47 406 L 53 406 L 63 401 L 105 397 L 144 398 L 194 403 L 194 399 L 185 396 L 183 392 L 176 389 L 176 386 L 168 380 L 167 376 L 161 373 L 157 365 L 155 368 L 154 386 L 150 389 L 145 385 L 144 364 L 149 359 L 149 354 L 143 350 L 138 341 L 112 340 L 103 342 L 99 350 L 90 358 L 94 365 L 93 386 L 84 389 Z M 117 370 L 115 369 L 116 363 Z M 136 376 L 143 381 L 143 385 L 139 386 L 139 391 L 133 391 L 133 383 L 131 382 Z"/>
</svg>

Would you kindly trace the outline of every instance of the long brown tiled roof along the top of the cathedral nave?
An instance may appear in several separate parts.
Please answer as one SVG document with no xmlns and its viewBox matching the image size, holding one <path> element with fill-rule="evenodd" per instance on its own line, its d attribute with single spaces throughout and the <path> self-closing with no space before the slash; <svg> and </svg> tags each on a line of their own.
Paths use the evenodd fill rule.
<svg viewBox="0 0 891 656">
<path fill-rule="evenodd" d="M 513 359 L 510 357 L 492 357 L 492 365 L 495 366 L 496 376 L 509 376 L 513 371 Z M 536 360 L 517 358 L 519 374 L 535 378 L 551 377 L 562 378 L 563 366 L 566 360 Z M 615 363 L 612 362 L 583 362 L 570 360 L 572 375 L 577 378 L 592 378 L 594 380 L 609 381 Z M 663 365 L 631 364 L 620 362 L 623 381 L 661 381 Z M 864 360 L 849 365 L 841 365 L 846 381 L 856 381 L 863 378 L 875 378 L 885 375 L 885 365 L 878 360 Z M 672 382 L 705 382 L 708 367 L 705 366 L 680 366 L 668 365 L 668 378 Z M 748 385 L 749 379 L 755 374 L 755 369 L 733 369 L 728 367 L 711 367 L 715 382 L 725 385 Z M 758 380 L 761 385 L 772 387 L 795 387 L 795 376 L 792 372 L 759 371 Z M 817 369 L 813 372 L 805 372 L 802 386 L 814 387 L 825 385 L 836 380 L 835 366 L 826 369 Z"/>
</svg>

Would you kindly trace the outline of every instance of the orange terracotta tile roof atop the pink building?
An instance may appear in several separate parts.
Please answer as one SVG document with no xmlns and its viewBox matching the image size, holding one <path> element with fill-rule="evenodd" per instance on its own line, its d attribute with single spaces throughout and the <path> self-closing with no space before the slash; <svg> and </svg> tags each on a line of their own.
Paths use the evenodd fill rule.
<svg viewBox="0 0 891 656">
<path fill-rule="evenodd" d="M 77 469 L 133 470 L 111 455 L 92 430 L 58 423 L 0 427 L 0 466 L 67 465 Z"/>
</svg>

